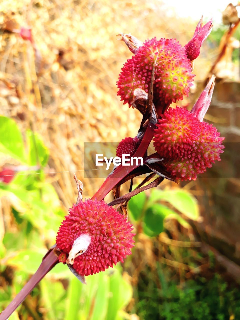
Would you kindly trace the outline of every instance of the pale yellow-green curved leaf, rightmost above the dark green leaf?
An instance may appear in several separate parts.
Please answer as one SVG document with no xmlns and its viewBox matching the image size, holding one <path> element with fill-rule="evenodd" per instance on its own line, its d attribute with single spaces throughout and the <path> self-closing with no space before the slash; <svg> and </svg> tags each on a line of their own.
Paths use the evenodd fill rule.
<svg viewBox="0 0 240 320">
<path fill-rule="evenodd" d="M 159 200 L 169 202 L 174 208 L 192 220 L 197 220 L 199 217 L 196 198 L 185 190 L 153 190 L 149 202 L 157 202 Z"/>
</svg>

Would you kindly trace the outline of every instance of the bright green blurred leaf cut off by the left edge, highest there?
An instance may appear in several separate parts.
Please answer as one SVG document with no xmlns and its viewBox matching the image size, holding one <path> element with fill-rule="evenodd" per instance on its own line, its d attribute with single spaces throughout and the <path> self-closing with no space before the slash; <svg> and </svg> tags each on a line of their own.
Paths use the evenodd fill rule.
<svg viewBox="0 0 240 320">
<path fill-rule="evenodd" d="M 14 120 L 0 116 L 0 152 L 26 163 L 21 132 Z"/>
</svg>

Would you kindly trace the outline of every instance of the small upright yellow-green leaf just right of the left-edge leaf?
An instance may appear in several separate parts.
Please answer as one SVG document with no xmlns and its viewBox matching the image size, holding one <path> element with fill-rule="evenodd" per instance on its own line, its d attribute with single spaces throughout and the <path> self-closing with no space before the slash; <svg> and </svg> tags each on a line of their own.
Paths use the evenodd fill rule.
<svg viewBox="0 0 240 320">
<path fill-rule="evenodd" d="M 29 165 L 37 165 L 38 163 L 45 166 L 48 162 L 49 151 L 44 146 L 42 139 L 38 134 L 31 130 L 27 131 L 27 141 L 29 147 L 28 162 Z"/>
</svg>

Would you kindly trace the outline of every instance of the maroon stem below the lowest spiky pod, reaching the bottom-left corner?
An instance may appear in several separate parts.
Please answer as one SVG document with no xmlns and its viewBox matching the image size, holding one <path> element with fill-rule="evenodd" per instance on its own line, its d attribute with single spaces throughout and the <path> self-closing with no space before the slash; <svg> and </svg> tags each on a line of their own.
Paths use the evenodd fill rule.
<svg viewBox="0 0 240 320">
<path fill-rule="evenodd" d="M 12 313 L 20 306 L 28 294 L 36 287 L 36 285 L 58 264 L 59 260 L 54 251 L 50 251 L 42 261 L 36 273 L 31 277 L 28 283 L 22 288 L 19 294 L 12 300 L 7 308 L 0 314 L 0 320 L 7 320 Z"/>
</svg>

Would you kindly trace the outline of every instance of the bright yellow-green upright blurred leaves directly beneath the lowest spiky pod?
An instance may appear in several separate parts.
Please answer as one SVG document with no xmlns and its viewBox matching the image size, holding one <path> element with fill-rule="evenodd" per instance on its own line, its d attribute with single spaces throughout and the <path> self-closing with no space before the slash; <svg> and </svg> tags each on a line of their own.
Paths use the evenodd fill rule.
<svg viewBox="0 0 240 320">
<path fill-rule="evenodd" d="M 125 319 L 123 308 L 132 298 L 132 287 L 121 274 L 120 268 L 100 272 L 87 278 L 83 285 L 70 276 L 68 290 L 59 281 L 47 278 L 40 283 L 41 300 L 46 308 L 46 319 L 121 320 Z"/>
</svg>

